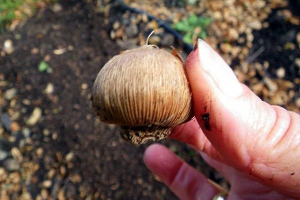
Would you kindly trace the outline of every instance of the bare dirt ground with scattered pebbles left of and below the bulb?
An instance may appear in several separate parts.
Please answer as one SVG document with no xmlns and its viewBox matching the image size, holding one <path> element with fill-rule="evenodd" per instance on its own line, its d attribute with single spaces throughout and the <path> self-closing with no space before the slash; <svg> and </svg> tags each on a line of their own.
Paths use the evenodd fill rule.
<svg viewBox="0 0 300 200">
<path fill-rule="evenodd" d="M 109 39 L 103 14 L 80 0 L 61 5 L 59 12 L 48 7 L 0 36 L 0 43 L 11 39 L 14 45 L 12 54 L 0 56 L 1 94 L 16 90 L 0 103 L 0 113 L 12 121 L 1 128 L 0 140 L 8 143 L 8 155 L 1 161 L 0 198 L 30 194 L 33 199 L 174 199 L 143 165 L 147 145 L 121 141 L 117 127 L 102 124 L 92 111 L 93 80 L 120 51 Z M 55 54 L 55 49 L 65 52 Z M 51 72 L 38 70 L 42 60 Z M 38 119 L 28 123 L 32 114 Z M 185 145 L 164 143 L 198 169 L 205 166 Z M 19 165 L 9 168 L 7 160 Z M 207 175 L 211 171 L 202 170 Z"/>
</svg>

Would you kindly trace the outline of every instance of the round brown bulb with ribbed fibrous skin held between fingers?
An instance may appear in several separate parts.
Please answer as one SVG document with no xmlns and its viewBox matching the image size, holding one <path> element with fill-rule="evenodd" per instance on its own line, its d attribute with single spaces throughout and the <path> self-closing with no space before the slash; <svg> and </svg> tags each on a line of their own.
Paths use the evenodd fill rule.
<svg viewBox="0 0 300 200">
<path fill-rule="evenodd" d="M 166 137 L 192 116 L 180 55 L 156 45 L 115 55 L 97 74 L 92 104 L 100 120 L 120 125 L 120 136 L 133 144 Z"/>
</svg>

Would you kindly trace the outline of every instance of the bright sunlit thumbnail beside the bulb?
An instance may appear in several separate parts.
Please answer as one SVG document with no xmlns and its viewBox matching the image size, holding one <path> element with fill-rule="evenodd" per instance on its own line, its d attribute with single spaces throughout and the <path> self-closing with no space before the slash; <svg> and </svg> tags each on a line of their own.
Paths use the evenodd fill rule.
<svg viewBox="0 0 300 200">
<path fill-rule="evenodd" d="M 203 39 L 197 40 L 199 67 L 209 75 L 222 93 L 239 96 L 243 89 L 232 69 Z"/>
</svg>

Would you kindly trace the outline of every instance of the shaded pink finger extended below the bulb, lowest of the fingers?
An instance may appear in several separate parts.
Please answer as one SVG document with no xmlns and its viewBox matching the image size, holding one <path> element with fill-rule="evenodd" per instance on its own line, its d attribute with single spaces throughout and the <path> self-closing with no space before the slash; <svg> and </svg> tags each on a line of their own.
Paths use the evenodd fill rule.
<svg viewBox="0 0 300 200">
<path fill-rule="evenodd" d="M 211 199 L 218 192 L 203 174 L 160 144 L 145 150 L 144 162 L 180 199 Z"/>
</svg>

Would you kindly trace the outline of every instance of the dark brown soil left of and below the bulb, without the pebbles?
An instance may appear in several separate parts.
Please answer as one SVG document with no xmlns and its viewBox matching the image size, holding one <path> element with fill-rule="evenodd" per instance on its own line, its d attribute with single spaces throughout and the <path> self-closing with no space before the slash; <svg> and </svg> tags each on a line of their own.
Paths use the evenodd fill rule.
<svg viewBox="0 0 300 200">
<path fill-rule="evenodd" d="M 67 172 L 58 185 L 73 199 L 80 198 L 82 185 L 88 189 L 87 194 L 99 199 L 175 199 L 144 166 L 142 155 L 147 145 L 133 146 L 120 140 L 118 128 L 99 122 L 92 111 L 93 80 L 101 66 L 120 50 L 109 39 L 103 13 L 95 12 L 93 4 L 82 0 L 61 0 L 60 3 L 62 11 L 54 13 L 46 8 L 15 31 L 0 35 L 1 44 L 10 38 L 15 48 L 11 55 L 0 56 L 0 72 L 9 82 L 7 88 L 2 89 L 16 87 L 16 103 L 25 108 L 17 122 L 25 127 L 24 121 L 34 107 L 42 110 L 41 120 L 30 127 L 33 150 L 23 154 L 39 163 L 35 182 L 27 186 L 28 191 L 34 198 L 40 192 L 38 183 L 46 179 L 47 171 L 54 168 L 59 173 L 59 167 L 64 165 Z M 61 55 L 52 52 L 68 46 L 72 47 Z M 39 49 L 37 54 L 31 53 L 34 47 Z M 49 59 L 51 73 L 38 71 L 37 66 L 43 59 Z M 44 93 L 47 83 L 54 85 L 51 95 Z M 88 85 L 87 89 L 81 88 L 83 83 Z M 26 105 L 22 99 L 29 99 L 31 103 Z M 6 112 L 7 107 L 2 107 L 2 112 Z M 44 129 L 50 134 L 44 134 Z M 186 145 L 169 139 L 162 143 L 217 180 L 215 172 Z M 40 146 L 44 154 L 38 158 L 35 149 Z M 60 159 L 70 151 L 75 155 L 71 166 Z M 82 177 L 77 183 L 68 178 L 75 172 Z M 56 198 L 53 185 L 48 192 L 54 193 L 53 198 Z"/>
</svg>

